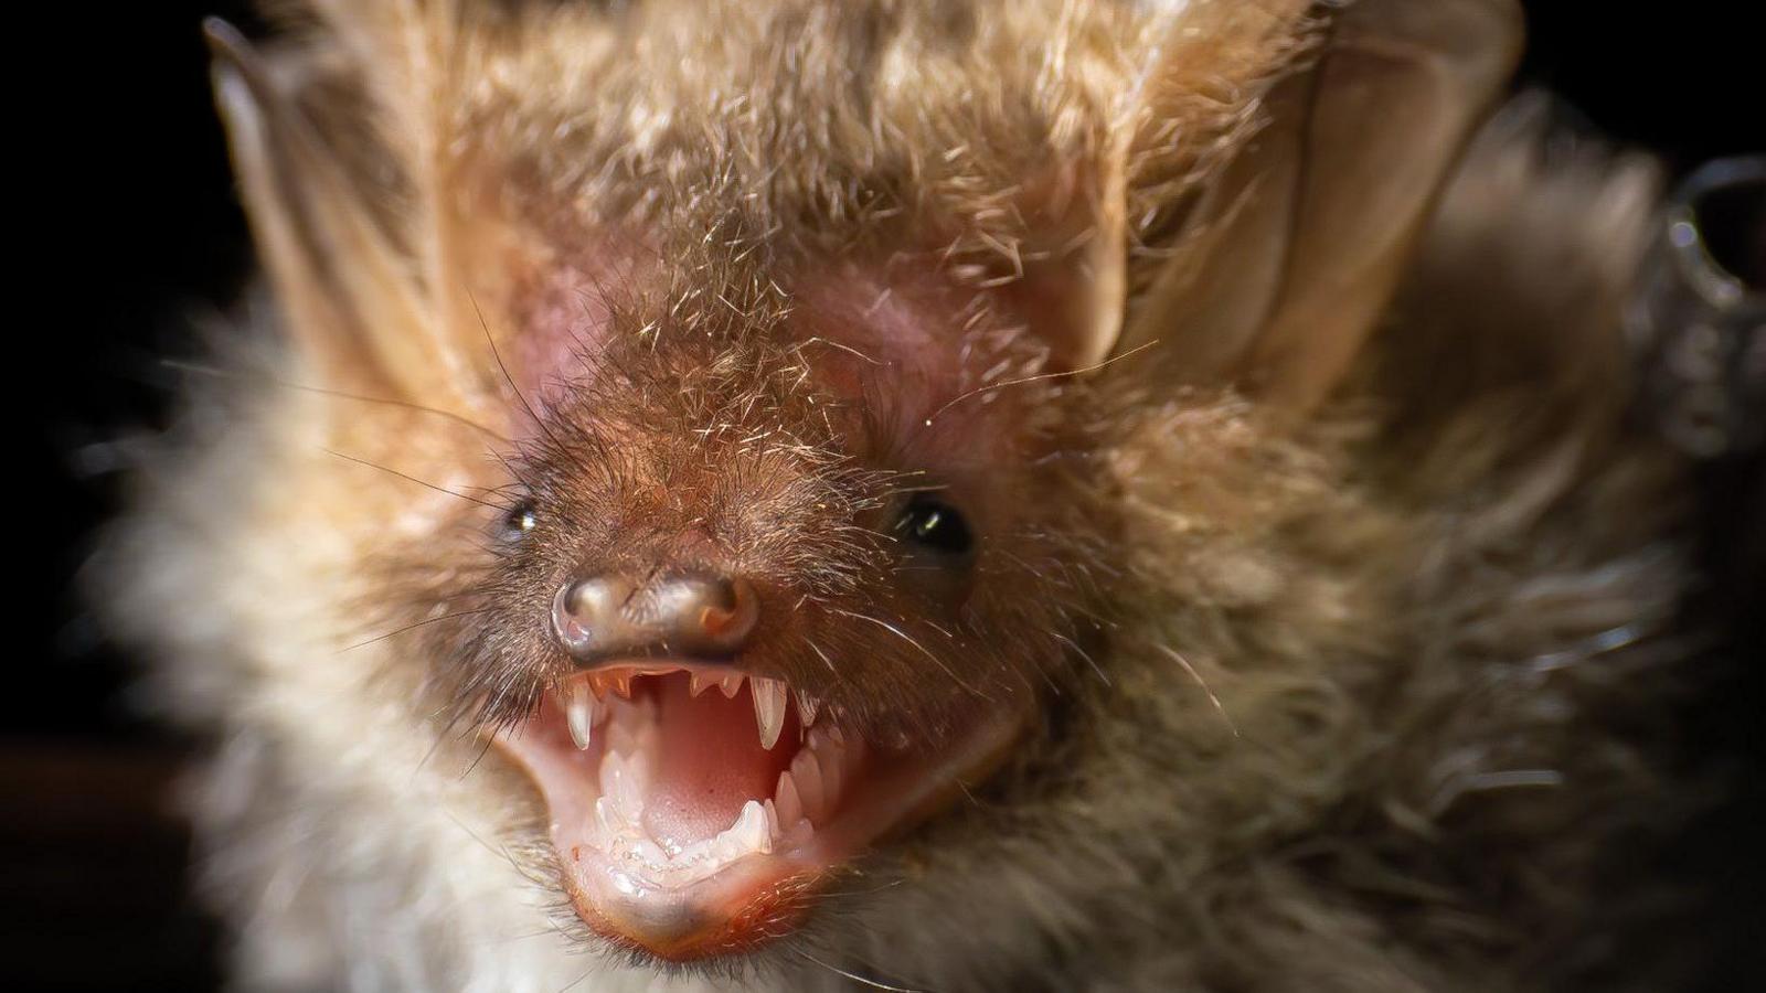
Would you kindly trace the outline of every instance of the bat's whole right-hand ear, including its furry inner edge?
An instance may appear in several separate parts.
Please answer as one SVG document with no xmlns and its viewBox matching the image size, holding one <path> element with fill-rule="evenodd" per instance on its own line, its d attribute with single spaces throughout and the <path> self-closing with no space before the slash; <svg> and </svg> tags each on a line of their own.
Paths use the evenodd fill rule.
<svg viewBox="0 0 1766 993">
<path fill-rule="evenodd" d="M 1107 166 L 1118 210 L 1100 217 L 1125 276 L 1106 311 L 1121 315 L 1120 336 L 1097 322 L 1093 353 L 1158 341 L 1176 383 L 1234 383 L 1291 408 L 1321 399 L 1379 320 L 1521 34 L 1513 0 L 1189 5 Z M 1287 67 L 1227 87 L 1250 94 L 1243 113 L 1204 90 L 1229 111 L 1210 125 L 1190 76 L 1222 51 L 1233 62 L 1233 46 L 1247 74 Z M 1234 120 L 1261 124 L 1234 134 Z M 1210 127 L 1215 163 L 1194 148 Z"/>
</svg>

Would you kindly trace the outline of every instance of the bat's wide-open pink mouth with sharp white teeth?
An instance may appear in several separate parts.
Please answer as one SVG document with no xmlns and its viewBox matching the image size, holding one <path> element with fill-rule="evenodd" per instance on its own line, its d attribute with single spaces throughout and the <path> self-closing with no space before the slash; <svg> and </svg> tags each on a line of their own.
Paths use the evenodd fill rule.
<svg viewBox="0 0 1766 993">
<path fill-rule="evenodd" d="M 692 959 L 795 929 L 819 880 L 985 774 L 1021 726 L 881 746 L 782 680 L 646 659 L 572 675 L 494 740 L 547 804 L 577 915 Z"/>
</svg>

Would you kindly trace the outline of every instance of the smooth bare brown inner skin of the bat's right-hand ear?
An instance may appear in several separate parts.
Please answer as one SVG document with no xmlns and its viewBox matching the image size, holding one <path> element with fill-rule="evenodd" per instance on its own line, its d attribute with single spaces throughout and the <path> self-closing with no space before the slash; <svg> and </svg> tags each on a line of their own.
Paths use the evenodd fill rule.
<svg viewBox="0 0 1766 993">
<path fill-rule="evenodd" d="M 1317 403 L 1393 293 L 1519 55 L 1512 0 L 1360 0 L 1257 102 L 1263 127 L 1132 300 L 1120 350 L 1162 341 L 1176 382 Z"/>
</svg>

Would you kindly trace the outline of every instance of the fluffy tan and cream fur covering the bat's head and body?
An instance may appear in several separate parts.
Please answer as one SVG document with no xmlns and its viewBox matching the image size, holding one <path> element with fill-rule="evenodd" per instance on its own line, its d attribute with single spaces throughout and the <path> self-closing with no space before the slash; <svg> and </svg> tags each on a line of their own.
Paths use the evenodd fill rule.
<svg viewBox="0 0 1766 993">
<path fill-rule="evenodd" d="M 1328 87 L 1337 16 L 314 4 L 224 74 L 283 307 L 249 323 L 288 336 L 200 398 L 101 572 L 217 733 L 194 813 L 240 982 L 671 970 L 581 928 L 477 730 L 560 675 L 533 613 L 570 557 L 703 525 L 798 597 L 772 664 L 869 735 L 1035 719 L 682 988 L 1612 988 L 1596 901 L 1681 806 L 1681 466 L 1626 428 L 1618 337 L 1653 173 L 1547 161 L 1512 110 L 1446 141 L 1328 390 L 1335 346 L 1185 345 L 1155 302 L 1213 299 L 1174 267 L 1236 251 L 1254 208 L 1210 193 L 1284 81 Z M 253 87 L 298 120 L 240 122 Z M 931 330 L 841 330 L 883 300 Z M 887 534 L 929 463 L 985 534 L 961 610 Z"/>
</svg>

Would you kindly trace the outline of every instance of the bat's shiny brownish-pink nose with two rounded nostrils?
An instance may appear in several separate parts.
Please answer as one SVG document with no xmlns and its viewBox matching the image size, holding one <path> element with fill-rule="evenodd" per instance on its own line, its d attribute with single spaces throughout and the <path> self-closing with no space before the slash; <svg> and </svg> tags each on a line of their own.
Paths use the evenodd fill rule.
<svg viewBox="0 0 1766 993">
<path fill-rule="evenodd" d="M 581 664 L 632 656 L 728 659 L 758 620 L 752 583 L 705 572 L 583 576 L 553 597 L 553 633 Z"/>
</svg>

